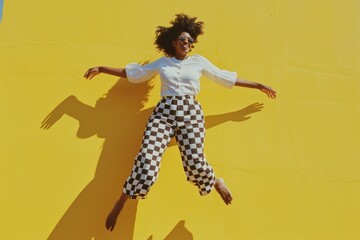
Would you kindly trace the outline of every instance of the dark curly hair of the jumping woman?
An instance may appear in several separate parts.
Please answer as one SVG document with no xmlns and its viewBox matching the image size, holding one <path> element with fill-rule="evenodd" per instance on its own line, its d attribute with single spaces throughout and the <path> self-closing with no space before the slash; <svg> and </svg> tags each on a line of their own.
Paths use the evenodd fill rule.
<svg viewBox="0 0 360 240">
<path fill-rule="evenodd" d="M 173 21 L 170 21 L 170 27 L 158 26 L 155 31 L 155 42 L 156 48 L 163 52 L 168 57 L 175 56 L 175 48 L 172 45 L 172 42 L 182 33 L 187 32 L 194 38 L 195 43 L 197 42 L 197 37 L 204 33 L 204 23 L 195 22 L 196 17 L 189 17 L 186 14 L 176 14 L 176 18 Z M 193 48 L 194 45 L 192 44 Z"/>
</svg>

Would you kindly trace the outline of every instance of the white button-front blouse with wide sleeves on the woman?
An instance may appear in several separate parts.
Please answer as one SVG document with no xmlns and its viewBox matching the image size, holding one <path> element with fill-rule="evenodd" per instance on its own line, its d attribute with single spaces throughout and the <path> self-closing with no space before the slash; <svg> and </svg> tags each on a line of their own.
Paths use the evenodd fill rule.
<svg viewBox="0 0 360 240">
<path fill-rule="evenodd" d="M 221 70 L 201 55 L 192 55 L 185 60 L 162 57 L 146 65 L 130 63 L 126 66 L 126 74 L 133 83 L 145 82 L 160 74 L 162 97 L 196 96 L 202 74 L 227 88 L 233 87 L 237 78 L 236 72 Z"/>
</svg>

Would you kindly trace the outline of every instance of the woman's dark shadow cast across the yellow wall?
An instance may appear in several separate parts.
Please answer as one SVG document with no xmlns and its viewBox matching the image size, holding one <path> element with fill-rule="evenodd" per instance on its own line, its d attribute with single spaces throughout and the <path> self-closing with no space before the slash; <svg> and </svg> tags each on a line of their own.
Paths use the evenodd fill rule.
<svg viewBox="0 0 360 240">
<path fill-rule="evenodd" d="M 121 194 L 139 150 L 143 129 L 153 108 L 141 109 L 152 88 L 153 81 L 132 84 L 120 79 L 95 107 L 69 96 L 44 119 L 41 127 L 49 129 L 66 114 L 79 122 L 77 137 L 96 134 L 105 139 L 93 180 L 65 212 L 49 240 L 133 239 L 138 200 L 126 203 L 113 232 L 105 229 L 105 219 Z M 235 112 L 205 117 L 206 127 L 247 120 L 250 118 L 247 115 L 262 108 L 263 104 L 254 103 Z M 185 221 L 180 221 L 165 239 L 193 239 L 184 224 Z"/>
</svg>

